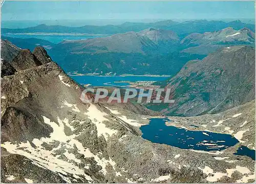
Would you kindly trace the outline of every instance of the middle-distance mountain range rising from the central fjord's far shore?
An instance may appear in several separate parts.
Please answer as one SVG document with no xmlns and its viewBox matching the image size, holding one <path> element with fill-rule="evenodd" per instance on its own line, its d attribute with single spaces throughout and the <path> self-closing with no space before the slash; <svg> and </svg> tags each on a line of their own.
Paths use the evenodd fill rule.
<svg viewBox="0 0 256 184">
<path fill-rule="evenodd" d="M 254 45 L 248 28 L 193 33 L 182 40 L 170 30 L 148 28 L 109 37 L 58 43 L 49 50 L 66 71 L 105 74 L 176 74 L 189 60 L 202 59 L 217 49 Z"/>
</svg>

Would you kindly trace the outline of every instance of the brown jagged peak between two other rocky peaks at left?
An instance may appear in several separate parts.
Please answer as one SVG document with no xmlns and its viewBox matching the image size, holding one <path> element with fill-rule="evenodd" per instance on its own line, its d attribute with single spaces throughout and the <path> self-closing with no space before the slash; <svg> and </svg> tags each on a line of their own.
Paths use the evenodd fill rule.
<svg viewBox="0 0 256 184">
<path fill-rule="evenodd" d="M 14 57 L 11 64 L 17 70 L 26 70 L 35 66 L 39 66 L 42 63 L 36 58 L 34 54 L 28 49 L 19 51 L 18 55 Z"/>
</svg>

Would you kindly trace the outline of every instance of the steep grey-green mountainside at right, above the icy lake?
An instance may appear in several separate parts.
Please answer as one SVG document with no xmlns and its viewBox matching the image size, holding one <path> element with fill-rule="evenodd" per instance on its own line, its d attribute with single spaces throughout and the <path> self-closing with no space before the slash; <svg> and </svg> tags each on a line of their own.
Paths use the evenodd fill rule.
<svg viewBox="0 0 256 184">
<path fill-rule="evenodd" d="M 175 103 L 162 112 L 196 116 L 249 102 L 255 94 L 254 68 L 255 50 L 248 46 L 226 47 L 191 60 L 167 82 Z"/>
</svg>

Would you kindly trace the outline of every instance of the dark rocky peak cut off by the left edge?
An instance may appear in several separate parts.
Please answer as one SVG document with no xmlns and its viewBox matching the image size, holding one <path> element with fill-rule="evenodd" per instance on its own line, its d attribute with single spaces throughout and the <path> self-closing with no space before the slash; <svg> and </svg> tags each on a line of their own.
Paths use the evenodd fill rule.
<svg viewBox="0 0 256 184">
<path fill-rule="evenodd" d="M 1 39 L 1 60 L 4 58 L 10 62 L 18 54 L 20 48 L 8 40 Z"/>
</svg>

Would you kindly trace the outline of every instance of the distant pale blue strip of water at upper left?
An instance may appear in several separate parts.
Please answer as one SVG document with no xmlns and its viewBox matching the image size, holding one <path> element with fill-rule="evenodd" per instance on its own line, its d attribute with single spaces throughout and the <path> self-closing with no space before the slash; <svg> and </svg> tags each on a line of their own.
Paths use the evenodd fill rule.
<svg viewBox="0 0 256 184">
<path fill-rule="evenodd" d="M 82 40 L 89 38 L 105 37 L 107 35 L 2 34 L 2 36 L 9 36 L 13 38 L 38 38 L 50 41 L 52 43 L 59 43 L 65 40 Z"/>
</svg>

